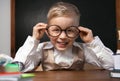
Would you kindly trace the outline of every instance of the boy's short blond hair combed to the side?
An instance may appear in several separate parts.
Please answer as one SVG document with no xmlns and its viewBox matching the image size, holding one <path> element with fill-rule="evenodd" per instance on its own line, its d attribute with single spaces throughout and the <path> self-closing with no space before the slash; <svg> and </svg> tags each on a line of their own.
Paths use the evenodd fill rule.
<svg viewBox="0 0 120 81">
<path fill-rule="evenodd" d="M 78 8 L 70 3 L 65 3 L 65 2 L 58 2 L 54 4 L 50 10 L 48 11 L 47 19 L 48 22 L 55 17 L 70 17 L 70 16 L 75 16 L 80 19 L 80 12 Z"/>
</svg>

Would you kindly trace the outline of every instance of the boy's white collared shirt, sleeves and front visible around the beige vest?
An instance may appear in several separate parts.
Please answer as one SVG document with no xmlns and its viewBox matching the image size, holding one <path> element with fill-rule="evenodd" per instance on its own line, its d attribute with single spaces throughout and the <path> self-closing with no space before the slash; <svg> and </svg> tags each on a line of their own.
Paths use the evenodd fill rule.
<svg viewBox="0 0 120 81">
<path fill-rule="evenodd" d="M 31 71 L 34 69 L 40 60 L 42 60 L 42 49 L 53 48 L 51 42 L 48 42 L 45 46 L 44 43 L 35 40 L 31 36 L 28 36 L 23 46 L 19 48 L 14 58 L 14 61 L 22 62 L 25 65 L 25 71 Z M 113 52 L 105 47 L 98 36 L 94 37 L 91 43 L 78 43 L 74 42 L 73 45 L 83 49 L 85 54 L 85 61 L 93 65 L 97 65 L 104 69 L 113 69 Z M 54 50 L 55 63 L 65 62 L 69 65 L 73 62 L 72 48 L 63 53 Z"/>
</svg>

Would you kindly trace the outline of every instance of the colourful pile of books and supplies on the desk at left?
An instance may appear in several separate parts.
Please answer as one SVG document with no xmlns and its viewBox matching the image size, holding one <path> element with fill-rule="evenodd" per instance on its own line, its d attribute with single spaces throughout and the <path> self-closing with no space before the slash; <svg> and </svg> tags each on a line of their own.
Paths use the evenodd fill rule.
<svg viewBox="0 0 120 81">
<path fill-rule="evenodd" d="M 12 57 L 0 54 L 0 81 L 33 81 L 33 73 L 22 73 L 17 64 L 12 64 Z"/>
</svg>

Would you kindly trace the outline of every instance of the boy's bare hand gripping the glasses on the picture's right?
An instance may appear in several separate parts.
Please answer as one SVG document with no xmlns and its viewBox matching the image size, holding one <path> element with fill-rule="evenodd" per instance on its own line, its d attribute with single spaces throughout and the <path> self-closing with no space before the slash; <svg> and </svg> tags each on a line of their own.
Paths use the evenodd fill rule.
<svg viewBox="0 0 120 81">
<path fill-rule="evenodd" d="M 94 40 L 92 30 L 82 27 L 79 27 L 80 30 L 80 38 L 85 42 L 85 43 L 90 43 Z"/>
</svg>

